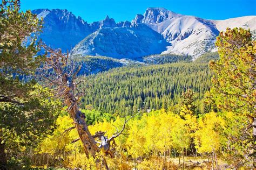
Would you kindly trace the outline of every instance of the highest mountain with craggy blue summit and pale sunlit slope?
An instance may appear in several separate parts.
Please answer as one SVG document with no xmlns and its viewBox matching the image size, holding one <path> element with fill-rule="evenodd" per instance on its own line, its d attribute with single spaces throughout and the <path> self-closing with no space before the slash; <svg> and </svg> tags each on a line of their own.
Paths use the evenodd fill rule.
<svg viewBox="0 0 256 170">
<path fill-rule="evenodd" d="M 148 8 L 133 24 L 146 24 L 171 43 L 163 54 L 178 53 L 194 57 L 212 51 L 219 31 L 211 21 L 184 16 L 164 8 Z"/>
</svg>

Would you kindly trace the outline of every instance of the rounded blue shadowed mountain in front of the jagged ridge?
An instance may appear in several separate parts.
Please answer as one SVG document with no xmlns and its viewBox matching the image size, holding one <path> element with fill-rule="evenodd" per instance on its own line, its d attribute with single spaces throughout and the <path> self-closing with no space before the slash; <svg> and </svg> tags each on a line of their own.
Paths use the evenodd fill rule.
<svg viewBox="0 0 256 170">
<path fill-rule="evenodd" d="M 136 59 L 165 51 L 169 43 L 145 25 L 103 28 L 80 41 L 72 55 L 102 55 L 117 59 Z"/>
</svg>

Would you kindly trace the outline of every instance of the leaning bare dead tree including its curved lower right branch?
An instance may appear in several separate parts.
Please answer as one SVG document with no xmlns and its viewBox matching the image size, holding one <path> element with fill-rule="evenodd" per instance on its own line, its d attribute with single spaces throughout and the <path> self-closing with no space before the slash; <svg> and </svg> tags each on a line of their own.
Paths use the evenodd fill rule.
<svg viewBox="0 0 256 170">
<path fill-rule="evenodd" d="M 105 137 L 104 135 L 106 132 L 100 131 L 96 132 L 96 134 L 92 136 L 85 122 L 85 115 L 78 108 L 79 98 L 85 95 L 84 91 L 80 92 L 77 89 L 77 85 L 80 82 L 83 82 L 83 80 L 75 82 L 76 75 L 81 67 L 75 69 L 74 67 L 76 66 L 68 64 L 69 54 L 62 54 L 60 50 L 55 51 L 46 46 L 44 46 L 44 48 L 47 52 L 50 53 L 50 55 L 46 58 L 46 63 L 43 67 L 43 70 L 45 72 L 45 69 L 53 69 L 55 72 L 55 75 L 46 75 L 44 78 L 50 82 L 51 86 L 56 88 L 56 97 L 64 98 L 64 103 L 68 106 L 69 114 L 74 121 L 73 123 L 75 123 L 75 127 L 69 128 L 68 131 L 73 128 L 77 129 L 79 139 L 83 143 L 83 148 L 87 158 L 89 158 L 89 155 L 91 155 L 93 158 L 96 158 L 97 153 L 100 153 L 101 148 L 104 149 L 105 155 L 110 155 L 110 157 L 113 157 L 112 152 L 115 146 L 114 138 L 122 134 L 126 123 L 136 115 L 130 117 L 129 119 L 126 119 L 125 117 L 123 129 L 120 131 L 117 129 L 117 132 L 114 133 L 111 138 Z M 97 141 L 96 138 L 98 138 L 100 141 Z M 79 139 L 73 140 L 72 143 L 75 143 Z M 100 145 L 98 146 L 97 143 Z M 109 169 L 104 158 L 97 158 L 97 163 L 99 162 L 101 162 L 100 166 L 103 165 L 106 169 Z"/>
</svg>

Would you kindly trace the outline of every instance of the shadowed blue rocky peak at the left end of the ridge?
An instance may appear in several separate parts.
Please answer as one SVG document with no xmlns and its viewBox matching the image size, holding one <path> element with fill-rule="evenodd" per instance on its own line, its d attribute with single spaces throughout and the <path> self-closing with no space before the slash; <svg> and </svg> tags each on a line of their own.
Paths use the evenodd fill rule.
<svg viewBox="0 0 256 170">
<path fill-rule="evenodd" d="M 40 38 L 53 48 L 70 50 L 91 33 L 90 25 L 67 10 L 33 10 L 38 18 L 44 18 L 43 33 Z"/>
</svg>

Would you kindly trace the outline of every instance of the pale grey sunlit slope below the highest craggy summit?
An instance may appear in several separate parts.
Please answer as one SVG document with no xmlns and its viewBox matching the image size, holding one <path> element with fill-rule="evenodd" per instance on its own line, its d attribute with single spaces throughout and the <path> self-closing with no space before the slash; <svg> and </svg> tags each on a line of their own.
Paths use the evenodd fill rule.
<svg viewBox="0 0 256 170">
<path fill-rule="evenodd" d="M 196 58 L 212 51 L 219 31 L 208 20 L 183 16 L 171 22 L 161 34 L 172 44 L 163 54 L 179 53 Z"/>
</svg>

